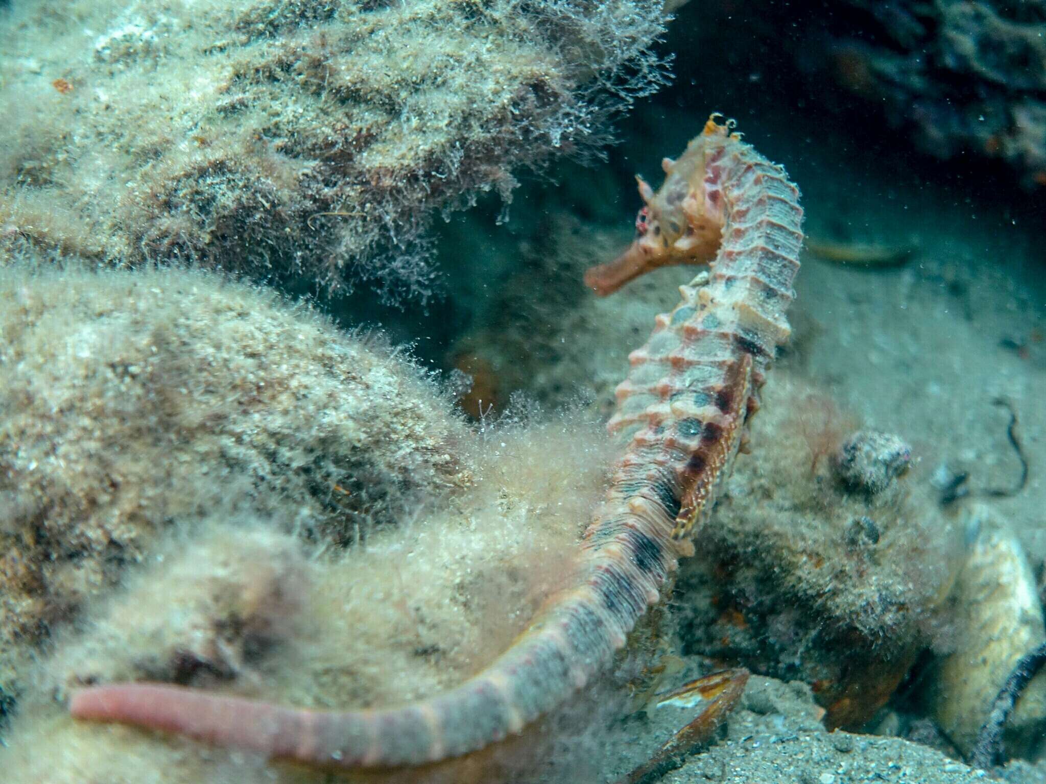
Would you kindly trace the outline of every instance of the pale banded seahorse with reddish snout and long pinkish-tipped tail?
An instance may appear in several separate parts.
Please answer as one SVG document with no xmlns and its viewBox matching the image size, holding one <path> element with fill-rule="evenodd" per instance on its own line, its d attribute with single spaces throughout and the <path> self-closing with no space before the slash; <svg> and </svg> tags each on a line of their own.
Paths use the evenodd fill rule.
<svg viewBox="0 0 1046 784">
<path fill-rule="evenodd" d="M 656 319 L 630 355 L 608 424 L 627 443 L 582 540 L 578 575 L 516 643 L 461 686 L 404 707 L 309 711 L 160 684 L 78 690 L 74 717 L 168 731 L 316 765 L 387 768 L 468 754 L 520 733 L 581 689 L 626 644 L 693 553 L 743 445 L 768 363 L 789 336 L 802 210 L 784 170 L 712 115 L 662 162 L 632 245 L 593 268 L 608 294 L 666 263 L 710 262 L 707 280 Z"/>
</svg>

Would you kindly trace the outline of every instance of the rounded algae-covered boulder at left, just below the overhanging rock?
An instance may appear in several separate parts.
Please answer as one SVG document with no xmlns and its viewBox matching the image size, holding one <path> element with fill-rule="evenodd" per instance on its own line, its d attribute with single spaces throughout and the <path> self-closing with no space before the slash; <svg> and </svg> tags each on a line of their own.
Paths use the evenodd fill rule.
<svg viewBox="0 0 1046 784">
<path fill-rule="evenodd" d="M 166 528 L 337 549 L 468 485 L 464 426 L 391 353 L 214 276 L 0 269 L 0 690 Z"/>
</svg>

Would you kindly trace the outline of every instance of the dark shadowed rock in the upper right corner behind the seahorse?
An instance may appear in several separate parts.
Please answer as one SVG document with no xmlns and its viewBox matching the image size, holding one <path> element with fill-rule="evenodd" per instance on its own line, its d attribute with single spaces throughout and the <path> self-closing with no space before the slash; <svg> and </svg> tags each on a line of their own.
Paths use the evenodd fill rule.
<svg viewBox="0 0 1046 784">
<path fill-rule="evenodd" d="M 891 140 L 908 137 L 943 160 L 997 161 L 1029 189 L 1046 185 L 1041 0 L 838 0 L 767 10 L 755 34 L 791 54 L 792 78 L 829 112 L 857 98 Z M 782 24 L 796 34 L 781 37 Z"/>
</svg>

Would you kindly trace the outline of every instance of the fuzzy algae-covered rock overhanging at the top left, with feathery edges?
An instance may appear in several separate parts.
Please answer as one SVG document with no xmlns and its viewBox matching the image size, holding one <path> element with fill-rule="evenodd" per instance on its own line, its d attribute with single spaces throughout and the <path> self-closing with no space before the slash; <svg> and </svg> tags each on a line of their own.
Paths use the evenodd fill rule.
<svg viewBox="0 0 1046 784">
<path fill-rule="evenodd" d="M 0 237 L 335 286 L 349 271 L 424 298 L 433 210 L 507 200 L 514 171 L 605 144 L 664 80 L 662 16 L 659 0 L 16 3 Z"/>
</svg>

